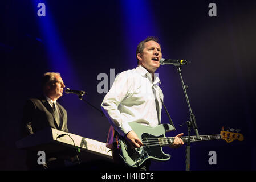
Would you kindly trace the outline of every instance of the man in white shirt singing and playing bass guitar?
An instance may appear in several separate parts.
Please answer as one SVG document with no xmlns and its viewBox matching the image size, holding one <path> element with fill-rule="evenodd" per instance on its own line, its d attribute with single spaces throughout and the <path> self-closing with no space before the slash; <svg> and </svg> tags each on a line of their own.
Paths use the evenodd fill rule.
<svg viewBox="0 0 256 182">
<path fill-rule="evenodd" d="M 149 127 L 155 127 L 161 122 L 164 96 L 159 87 L 159 77 L 155 75 L 161 58 L 161 46 L 157 38 L 148 37 L 141 41 L 136 51 L 137 68 L 120 73 L 101 104 L 101 109 L 111 124 L 107 147 L 112 148 L 113 159 L 121 166 L 125 164 L 119 155 L 114 137 L 119 134 L 125 137 L 130 145 L 128 147 L 139 148 L 143 143 L 128 122 L 137 122 Z M 172 148 L 184 144 L 179 138 L 182 135 L 181 133 L 175 137 Z M 149 166 L 150 160 L 146 160 L 136 169 L 145 171 Z"/>
</svg>

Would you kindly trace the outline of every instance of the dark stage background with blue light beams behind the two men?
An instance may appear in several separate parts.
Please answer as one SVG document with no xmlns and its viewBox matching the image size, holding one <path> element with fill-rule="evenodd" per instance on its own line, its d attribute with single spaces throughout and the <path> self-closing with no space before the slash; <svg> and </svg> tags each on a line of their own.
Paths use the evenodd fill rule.
<svg viewBox="0 0 256 182">
<path fill-rule="evenodd" d="M 40 2 L 46 16 L 38 16 Z M 216 17 L 208 15 L 211 2 Z M 41 94 L 43 73 L 60 72 L 66 87 L 86 90 L 84 99 L 100 109 L 105 93 L 97 89 L 103 83 L 97 76 L 108 76 L 109 90 L 113 74 L 136 67 L 136 46 L 147 36 L 159 37 L 162 57 L 191 61 L 181 70 L 199 134 L 218 134 L 225 126 L 241 129 L 245 137 L 192 143 L 190 169 L 256 169 L 255 1 L 31 0 L 1 1 L 0 7 L 0 169 L 26 170 L 25 153 L 14 143 L 21 137 L 22 107 Z M 186 126 L 179 125 L 188 121 L 189 110 L 177 70 L 164 65 L 157 73 L 177 127 L 166 135 L 186 135 Z M 70 133 L 106 141 L 109 123 L 97 110 L 72 94 L 58 101 L 68 112 Z M 169 123 L 164 110 L 162 123 Z M 152 170 L 185 170 L 185 146 L 164 151 L 172 158 L 153 162 Z M 216 151 L 216 165 L 208 163 L 209 151 Z"/>
</svg>

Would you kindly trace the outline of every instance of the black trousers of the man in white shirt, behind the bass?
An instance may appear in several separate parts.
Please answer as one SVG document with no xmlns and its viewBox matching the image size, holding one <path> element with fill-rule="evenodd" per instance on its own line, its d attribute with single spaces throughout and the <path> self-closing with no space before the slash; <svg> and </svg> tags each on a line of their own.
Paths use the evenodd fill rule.
<svg viewBox="0 0 256 182">
<path fill-rule="evenodd" d="M 127 166 L 127 164 L 125 164 L 123 158 L 121 158 L 121 156 L 119 154 L 119 150 L 116 146 L 116 143 L 113 143 L 112 156 L 113 156 L 114 162 L 118 166 L 117 170 L 120 170 L 120 171 L 149 171 L 151 160 L 146 160 L 139 167 L 129 167 L 129 166 Z"/>
</svg>

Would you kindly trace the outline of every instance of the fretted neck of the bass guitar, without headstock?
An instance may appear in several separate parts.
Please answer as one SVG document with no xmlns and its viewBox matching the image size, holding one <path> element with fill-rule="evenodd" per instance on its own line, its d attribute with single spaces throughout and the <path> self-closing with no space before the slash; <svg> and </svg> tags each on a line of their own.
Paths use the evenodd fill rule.
<svg viewBox="0 0 256 182">
<path fill-rule="evenodd" d="M 188 141 L 188 136 L 180 137 L 184 143 Z M 169 146 L 173 144 L 174 137 L 160 137 L 159 144 L 160 146 Z M 200 135 L 199 139 L 197 139 L 196 136 L 190 136 L 190 142 L 199 142 L 199 141 L 205 141 L 205 140 L 216 140 L 216 139 L 222 139 L 220 134 L 217 135 Z"/>
</svg>

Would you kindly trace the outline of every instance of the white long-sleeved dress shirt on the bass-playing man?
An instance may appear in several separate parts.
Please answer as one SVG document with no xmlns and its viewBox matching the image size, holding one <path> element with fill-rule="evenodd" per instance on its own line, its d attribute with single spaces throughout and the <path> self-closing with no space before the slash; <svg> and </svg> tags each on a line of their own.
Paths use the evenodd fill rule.
<svg viewBox="0 0 256 182">
<path fill-rule="evenodd" d="M 142 123 L 150 127 L 160 124 L 161 100 L 164 96 L 158 85 L 161 82 L 157 75 L 154 75 L 152 81 L 151 73 L 141 65 L 121 72 L 104 97 L 101 109 L 111 126 L 122 136 L 132 130 L 128 122 Z"/>
</svg>

